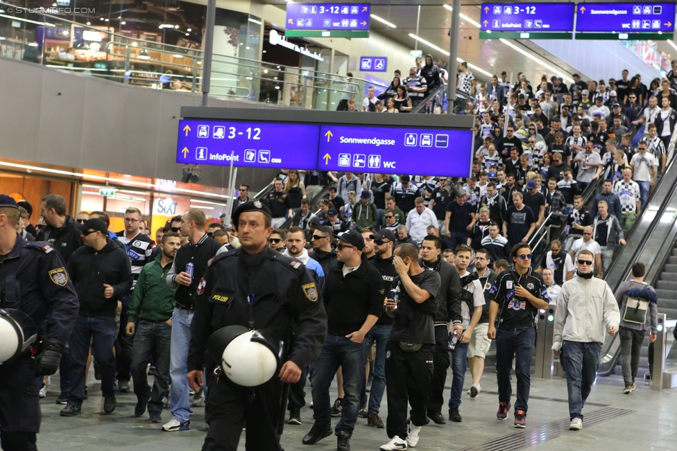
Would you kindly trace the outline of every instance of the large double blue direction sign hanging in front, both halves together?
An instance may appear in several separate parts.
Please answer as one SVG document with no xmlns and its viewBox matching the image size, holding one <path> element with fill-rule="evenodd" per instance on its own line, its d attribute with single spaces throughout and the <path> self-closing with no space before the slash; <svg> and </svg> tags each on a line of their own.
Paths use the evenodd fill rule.
<svg viewBox="0 0 677 451">
<path fill-rule="evenodd" d="M 339 170 L 468 177 L 472 129 L 465 116 L 403 118 L 414 125 L 372 125 L 349 114 L 255 112 L 245 109 L 184 107 L 179 121 L 176 162 L 214 166 Z M 198 119 L 195 117 L 207 118 Z M 230 120 L 230 117 L 245 120 Z M 264 120 L 251 120 L 265 117 Z M 444 119 L 444 120 L 442 120 Z M 433 121 L 432 123 L 429 121 Z M 454 125 L 449 125 L 451 121 Z M 419 125 L 420 124 L 420 125 Z M 460 128 L 463 126 L 463 128 Z"/>
</svg>

